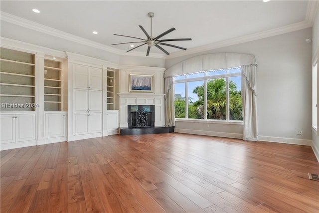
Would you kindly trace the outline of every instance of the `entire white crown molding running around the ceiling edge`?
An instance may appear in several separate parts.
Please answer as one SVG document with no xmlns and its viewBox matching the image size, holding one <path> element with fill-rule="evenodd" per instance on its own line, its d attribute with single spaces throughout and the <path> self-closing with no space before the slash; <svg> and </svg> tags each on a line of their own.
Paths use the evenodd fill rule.
<svg viewBox="0 0 319 213">
<path fill-rule="evenodd" d="M 28 28 L 28 29 L 32 29 L 32 30 L 35 30 L 38 32 L 46 33 L 46 34 L 49 34 L 49 35 L 52 35 L 55 37 L 59 37 L 59 38 L 65 39 L 65 40 L 84 44 L 84 45 L 87 45 L 87 46 L 90 46 L 93 48 L 101 49 L 101 50 L 111 52 L 114 54 L 118 54 L 118 55 L 131 56 L 131 57 L 132 56 L 153 57 L 153 58 L 159 58 L 159 59 L 166 60 L 166 59 L 186 56 L 186 55 L 190 55 L 190 54 L 209 51 L 212 49 L 217 49 L 217 48 L 221 48 L 221 47 L 245 43 L 245 42 L 249 42 L 249 41 L 254 41 L 254 40 L 258 40 L 258 39 L 262 39 L 262 38 L 267 38 L 267 37 L 271 37 L 271 36 L 281 35 L 281 34 L 285 34 L 288 32 L 293 32 L 293 31 L 309 28 L 309 27 L 313 26 L 313 23 L 314 23 L 314 20 L 316 17 L 316 13 L 318 10 L 319 10 L 319 2 L 317 0 L 309 0 L 308 4 L 307 4 L 307 12 L 306 12 L 306 17 L 305 17 L 304 21 L 297 22 L 297 23 L 290 24 L 290 25 L 286 25 L 283 27 L 278 27 L 275 29 L 266 30 L 263 32 L 258 32 L 258 33 L 254 33 L 254 34 L 250 34 L 250 35 L 237 37 L 237 38 L 223 40 L 223 41 L 219 41 L 219 42 L 215 42 L 215 43 L 211 43 L 211 44 L 207 44 L 207 45 L 203 45 L 203 46 L 199 46 L 199 47 L 189 48 L 186 51 L 178 51 L 175 53 L 171 53 L 170 55 L 165 55 L 165 54 L 160 54 L 160 53 L 150 53 L 149 56 L 146 56 L 145 52 L 135 51 L 135 52 L 127 53 L 127 52 L 124 52 L 125 50 L 119 50 L 117 48 L 110 47 L 108 45 L 101 44 L 98 42 L 94 42 L 94 41 L 91 41 L 89 39 L 82 38 L 82 37 L 61 31 L 61 30 L 57 30 L 57 29 L 30 21 L 30 20 L 27 20 L 24 18 L 20 18 L 18 16 L 11 15 L 9 13 L 2 12 L 2 11 L 1 11 L 1 20 L 18 25 L 18 26 L 21 26 L 21 27 L 24 27 L 24 28 Z"/>
</svg>

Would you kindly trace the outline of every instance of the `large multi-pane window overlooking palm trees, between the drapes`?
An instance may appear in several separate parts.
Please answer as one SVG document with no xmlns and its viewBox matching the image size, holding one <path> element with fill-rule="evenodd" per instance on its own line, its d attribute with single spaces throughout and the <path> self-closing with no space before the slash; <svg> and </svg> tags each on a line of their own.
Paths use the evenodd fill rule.
<svg viewBox="0 0 319 213">
<path fill-rule="evenodd" d="M 175 118 L 242 121 L 240 67 L 174 77 Z"/>
</svg>

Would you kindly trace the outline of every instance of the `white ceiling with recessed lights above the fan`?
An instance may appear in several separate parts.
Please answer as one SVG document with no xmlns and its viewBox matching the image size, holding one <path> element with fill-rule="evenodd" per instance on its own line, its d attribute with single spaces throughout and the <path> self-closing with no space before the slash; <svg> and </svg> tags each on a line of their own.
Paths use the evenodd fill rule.
<svg viewBox="0 0 319 213">
<path fill-rule="evenodd" d="M 170 44 L 195 48 L 285 27 L 305 21 L 308 1 L 262 0 L 103 0 L 103 1 L 16 1 L 1 0 L 1 11 L 61 30 L 91 41 L 111 46 L 113 43 L 138 41 L 116 36 L 123 34 L 146 38 L 139 25 L 150 33 L 148 12 L 154 12 L 153 36 L 175 27 L 166 38 L 192 38 L 191 41 L 171 41 Z M 34 13 L 33 8 L 40 10 Z M 98 34 L 92 34 L 92 31 Z M 168 43 L 168 42 L 167 42 Z M 129 44 L 112 46 L 123 52 Z M 168 52 L 183 51 L 163 46 Z M 147 45 L 134 51 L 146 52 Z M 162 53 L 152 47 L 151 53 Z"/>
</svg>

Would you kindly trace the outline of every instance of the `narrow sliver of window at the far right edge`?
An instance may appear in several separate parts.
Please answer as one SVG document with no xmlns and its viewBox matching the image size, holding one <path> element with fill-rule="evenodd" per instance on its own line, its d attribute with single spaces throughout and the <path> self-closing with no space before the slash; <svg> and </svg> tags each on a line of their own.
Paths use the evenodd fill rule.
<svg viewBox="0 0 319 213">
<path fill-rule="evenodd" d="M 313 66 L 313 128 L 318 131 L 318 63 Z"/>
</svg>

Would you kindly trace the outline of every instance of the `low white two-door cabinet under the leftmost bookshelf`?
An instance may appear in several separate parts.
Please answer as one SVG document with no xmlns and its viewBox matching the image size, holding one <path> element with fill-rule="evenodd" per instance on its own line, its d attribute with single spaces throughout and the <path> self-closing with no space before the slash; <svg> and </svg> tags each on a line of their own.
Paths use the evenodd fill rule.
<svg viewBox="0 0 319 213">
<path fill-rule="evenodd" d="M 32 141 L 35 135 L 35 113 L 2 113 L 1 145 Z"/>
</svg>

